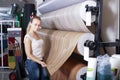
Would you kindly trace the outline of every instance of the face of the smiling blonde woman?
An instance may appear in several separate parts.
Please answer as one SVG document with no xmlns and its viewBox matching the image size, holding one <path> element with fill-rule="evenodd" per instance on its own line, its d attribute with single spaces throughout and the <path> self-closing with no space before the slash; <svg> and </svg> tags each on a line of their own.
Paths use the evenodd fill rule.
<svg viewBox="0 0 120 80">
<path fill-rule="evenodd" d="M 31 22 L 31 28 L 35 32 L 39 31 L 42 28 L 41 21 L 38 19 L 33 19 L 33 21 Z"/>
</svg>

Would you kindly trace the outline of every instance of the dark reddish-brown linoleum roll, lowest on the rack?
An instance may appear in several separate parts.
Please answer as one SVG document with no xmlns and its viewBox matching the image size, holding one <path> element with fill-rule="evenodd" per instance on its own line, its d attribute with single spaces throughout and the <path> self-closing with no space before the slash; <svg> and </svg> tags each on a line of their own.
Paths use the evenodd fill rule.
<svg viewBox="0 0 120 80">
<path fill-rule="evenodd" d="M 84 63 L 81 63 L 75 58 L 70 57 L 58 71 L 59 71 L 59 74 L 58 73 L 53 74 L 52 80 L 55 80 L 55 79 L 56 80 L 84 80 L 85 74 L 87 72 L 87 68 Z M 58 76 L 60 75 L 61 77 L 64 77 L 64 78 L 63 79 L 59 78 Z"/>
</svg>

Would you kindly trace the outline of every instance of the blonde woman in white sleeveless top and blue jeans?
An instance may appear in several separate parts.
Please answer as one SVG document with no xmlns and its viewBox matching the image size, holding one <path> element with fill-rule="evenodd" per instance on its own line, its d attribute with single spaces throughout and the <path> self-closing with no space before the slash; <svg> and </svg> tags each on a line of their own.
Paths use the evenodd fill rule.
<svg viewBox="0 0 120 80">
<path fill-rule="evenodd" d="M 24 37 L 24 46 L 27 56 L 25 61 L 25 67 L 28 71 L 30 80 L 46 80 L 47 77 L 45 67 L 47 66 L 43 62 L 44 57 L 44 41 L 37 32 L 42 28 L 40 17 L 34 16 L 27 27 L 27 34 Z"/>
</svg>

